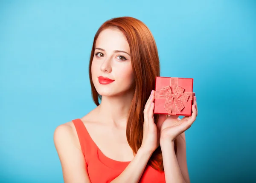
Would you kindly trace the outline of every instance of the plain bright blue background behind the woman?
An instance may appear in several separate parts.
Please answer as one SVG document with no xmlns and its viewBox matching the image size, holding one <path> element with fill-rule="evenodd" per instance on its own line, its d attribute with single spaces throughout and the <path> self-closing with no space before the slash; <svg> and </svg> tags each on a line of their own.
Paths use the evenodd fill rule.
<svg viewBox="0 0 256 183">
<path fill-rule="evenodd" d="M 161 76 L 194 78 L 191 182 L 255 181 L 255 9 L 253 0 L 0 1 L 0 182 L 63 182 L 53 132 L 95 107 L 93 37 L 121 16 L 151 30 Z"/>
</svg>

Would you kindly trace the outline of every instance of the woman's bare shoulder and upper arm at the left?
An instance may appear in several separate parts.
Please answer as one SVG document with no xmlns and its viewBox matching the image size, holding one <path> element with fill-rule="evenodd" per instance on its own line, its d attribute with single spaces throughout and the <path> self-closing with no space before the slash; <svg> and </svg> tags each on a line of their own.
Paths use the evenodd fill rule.
<svg viewBox="0 0 256 183">
<path fill-rule="evenodd" d="M 53 135 L 65 183 L 90 183 L 76 128 L 72 121 L 60 124 Z"/>
</svg>

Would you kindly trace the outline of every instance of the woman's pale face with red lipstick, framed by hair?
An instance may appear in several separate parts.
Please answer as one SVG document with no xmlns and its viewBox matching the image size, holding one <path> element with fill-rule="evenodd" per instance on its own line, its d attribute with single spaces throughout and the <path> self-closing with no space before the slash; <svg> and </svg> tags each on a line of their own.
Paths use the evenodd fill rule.
<svg viewBox="0 0 256 183">
<path fill-rule="evenodd" d="M 131 89 L 134 75 L 130 47 L 121 31 L 108 28 L 99 34 L 91 67 L 99 95 L 117 96 Z"/>
</svg>

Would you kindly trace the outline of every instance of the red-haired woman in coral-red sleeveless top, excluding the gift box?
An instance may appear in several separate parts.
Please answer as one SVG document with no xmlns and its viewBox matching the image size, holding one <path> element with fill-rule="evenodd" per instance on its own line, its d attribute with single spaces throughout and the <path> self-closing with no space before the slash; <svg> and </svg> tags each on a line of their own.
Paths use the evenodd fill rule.
<svg viewBox="0 0 256 183">
<path fill-rule="evenodd" d="M 65 183 L 189 183 L 185 131 L 197 116 L 156 115 L 157 46 L 132 17 L 103 23 L 89 77 L 96 108 L 60 124 L 54 143 Z"/>
</svg>

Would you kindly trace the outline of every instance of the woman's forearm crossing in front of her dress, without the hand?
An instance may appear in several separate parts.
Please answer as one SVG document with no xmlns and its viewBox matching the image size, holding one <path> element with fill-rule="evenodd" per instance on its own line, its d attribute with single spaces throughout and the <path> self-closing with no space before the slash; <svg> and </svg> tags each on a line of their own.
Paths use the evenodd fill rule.
<svg viewBox="0 0 256 183">
<path fill-rule="evenodd" d="M 125 170 L 111 183 L 138 183 L 152 153 L 139 149 Z"/>
</svg>

